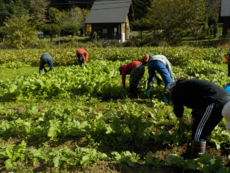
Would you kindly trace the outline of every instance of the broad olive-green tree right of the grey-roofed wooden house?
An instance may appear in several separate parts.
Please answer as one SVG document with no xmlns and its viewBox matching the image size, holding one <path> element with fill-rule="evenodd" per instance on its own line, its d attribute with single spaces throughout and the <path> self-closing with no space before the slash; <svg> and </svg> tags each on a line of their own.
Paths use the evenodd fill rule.
<svg viewBox="0 0 230 173">
<path fill-rule="evenodd" d="M 185 31 L 199 30 L 206 6 L 205 0 L 152 0 L 147 19 L 161 30 L 162 38 L 180 40 Z"/>
</svg>

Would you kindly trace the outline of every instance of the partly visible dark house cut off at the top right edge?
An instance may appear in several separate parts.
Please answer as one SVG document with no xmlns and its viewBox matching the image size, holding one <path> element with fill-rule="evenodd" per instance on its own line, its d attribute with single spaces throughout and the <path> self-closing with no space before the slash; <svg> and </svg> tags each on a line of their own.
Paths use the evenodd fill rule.
<svg viewBox="0 0 230 173">
<path fill-rule="evenodd" d="M 230 35 L 230 0 L 221 0 L 220 23 L 223 23 L 223 36 Z"/>
</svg>

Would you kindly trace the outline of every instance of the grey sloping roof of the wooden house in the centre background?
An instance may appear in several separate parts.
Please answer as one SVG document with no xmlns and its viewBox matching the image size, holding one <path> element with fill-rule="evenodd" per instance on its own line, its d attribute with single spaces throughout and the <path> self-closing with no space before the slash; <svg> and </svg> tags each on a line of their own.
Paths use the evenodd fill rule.
<svg viewBox="0 0 230 173">
<path fill-rule="evenodd" d="M 85 23 L 125 23 L 132 0 L 95 1 Z"/>
</svg>

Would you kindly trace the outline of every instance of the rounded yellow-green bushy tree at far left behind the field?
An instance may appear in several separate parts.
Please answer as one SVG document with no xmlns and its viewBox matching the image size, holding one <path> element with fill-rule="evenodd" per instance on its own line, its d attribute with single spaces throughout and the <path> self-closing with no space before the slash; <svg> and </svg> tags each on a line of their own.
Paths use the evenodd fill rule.
<svg viewBox="0 0 230 173">
<path fill-rule="evenodd" d="M 6 45 L 9 48 L 29 48 L 37 40 L 35 29 L 29 22 L 28 14 L 18 17 L 12 15 L 4 22 L 3 32 L 6 38 Z"/>
</svg>

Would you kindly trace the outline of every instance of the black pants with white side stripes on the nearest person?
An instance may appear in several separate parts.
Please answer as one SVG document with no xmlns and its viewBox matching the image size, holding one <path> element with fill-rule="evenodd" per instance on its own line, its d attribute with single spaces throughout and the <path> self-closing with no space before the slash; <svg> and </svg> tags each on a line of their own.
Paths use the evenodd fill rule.
<svg viewBox="0 0 230 173">
<path fill-rule="evenodd" d="M 207 140 L 211 132 L 222 120 L 224 105 L 216 106 L 214 103 L 201 110 L 192 126 L 192 139 L 195 141 Z"/>
</svg>

